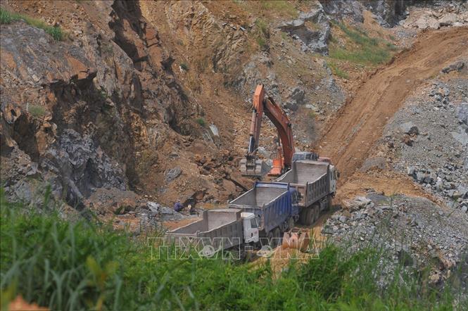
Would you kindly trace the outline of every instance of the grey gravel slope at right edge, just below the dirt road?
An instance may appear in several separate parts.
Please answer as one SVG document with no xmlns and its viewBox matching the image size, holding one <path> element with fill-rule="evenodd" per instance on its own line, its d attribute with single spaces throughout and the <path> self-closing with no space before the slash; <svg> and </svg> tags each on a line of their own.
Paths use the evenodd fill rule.
<svg viewBox="0 0 468 311">
<path fill-rule="evenodd" d="M 386 126 L 384 140 L 393 146 L 393 168 L 467 212 L 468 80 L 434 82 L 422 92 Z"/>
</svg>

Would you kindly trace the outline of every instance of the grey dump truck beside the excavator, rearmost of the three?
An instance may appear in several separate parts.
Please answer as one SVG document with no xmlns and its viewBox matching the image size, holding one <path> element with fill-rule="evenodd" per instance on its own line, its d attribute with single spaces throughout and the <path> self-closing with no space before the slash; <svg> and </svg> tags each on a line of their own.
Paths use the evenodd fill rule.
<svg viewBox="0 0 468 311">
<path fill-rule="evenodd" d="M 331 207 L 336 193 L 337 171 L 327 158 L 293 161 L 291 170 L 276 182 L 288 183 L 301 193 L 299 221 L 310 225 L 318 220 L 320 213 Z"/>
</svg>

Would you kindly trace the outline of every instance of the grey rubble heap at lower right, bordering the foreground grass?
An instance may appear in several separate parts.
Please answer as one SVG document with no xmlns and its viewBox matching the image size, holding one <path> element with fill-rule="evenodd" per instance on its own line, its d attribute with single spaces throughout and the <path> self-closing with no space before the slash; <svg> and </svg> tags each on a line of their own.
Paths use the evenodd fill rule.
<svg viewBox="0 0 468 311">
<path fill-rule="evenodd" d="M 322 233 L 351 250 L 369 245 L 381 248 L 382 262 L 389 263 L 382 267 L 384 273 L 396 266 L 429 266 L 430 282 L 443 284 L 455 274 L 466 288 L 467 275 L 457 265 L 467 260 L 467 223 L 466 213 L 444 210 L 426 198 L 369 192 L 347 201 L 327 220 Z"/>
</svg>

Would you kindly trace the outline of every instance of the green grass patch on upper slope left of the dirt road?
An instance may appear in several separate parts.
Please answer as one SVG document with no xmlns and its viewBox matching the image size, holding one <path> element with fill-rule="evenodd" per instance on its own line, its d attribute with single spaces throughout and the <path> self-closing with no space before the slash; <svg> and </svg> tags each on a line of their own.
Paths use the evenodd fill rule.
<svg viewBox="0 0 468 311">
<path fill-rule="evenodd" d="M 390 61 L 396 46 L 384 40 L 371 38 L 365 31 L 351 30 L 343 23 L 334 23 L 346 34 L 351 42 L 358 45 L 358 48 L 348 48 L 332 44 L 329 49 L 329 56 L 342 61 L 350 61 L 363 65 L 379 65 Z"/>
</svg>

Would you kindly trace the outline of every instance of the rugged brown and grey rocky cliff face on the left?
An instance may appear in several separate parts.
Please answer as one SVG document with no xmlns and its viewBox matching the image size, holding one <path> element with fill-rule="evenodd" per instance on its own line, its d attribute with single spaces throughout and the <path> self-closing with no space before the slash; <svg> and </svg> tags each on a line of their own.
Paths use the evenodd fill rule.
<svg viewBox="0 0 468 311">
<path fill-rule="evenodd" d="M 170 158 L 190 161 L 184 147 L 202 137 L 194 118 L 201 106 L 185 94 L 174 59 L 137 2 L 56 5 L 76 6 L 82 15 L 75 23 L 60 15 L 70 28 L 64 42 L 22 22 L 1 25 L 6 192 L 31 201 L 37 184 L 51 184 L 72 206 L 101 187 L 154 193 L 165 184 Z M 208 189 L 199 179 L 196 188 Z"/>
</svg>

